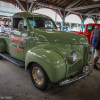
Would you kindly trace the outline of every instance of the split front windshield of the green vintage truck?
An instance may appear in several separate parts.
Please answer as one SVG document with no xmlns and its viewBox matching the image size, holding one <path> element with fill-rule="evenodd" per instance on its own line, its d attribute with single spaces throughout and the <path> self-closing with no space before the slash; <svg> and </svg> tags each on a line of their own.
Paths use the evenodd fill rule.
<svg viewBox="0 0 100 100">
<path fill-rule="evenodd" d="M 28 17 L 28 22 L 31 28 L 57 28 L 53 20 L 44 17 L 34 17 L 34 20 L 33 17 Z"/>
</svg>

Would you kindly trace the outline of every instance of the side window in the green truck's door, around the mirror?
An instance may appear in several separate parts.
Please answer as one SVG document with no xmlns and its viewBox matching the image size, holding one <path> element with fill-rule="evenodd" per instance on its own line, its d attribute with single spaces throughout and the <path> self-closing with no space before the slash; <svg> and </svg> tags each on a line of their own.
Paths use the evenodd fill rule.
<svg viewBox="0 0 100 100">
<path fill-rule="evenodd" d="M 23 24 L 24 28 L 27 30 L 27 25 L 23 18 L 14 18 L 13 19 L 13 28 L 18 29 L 18 24 Z"/>
</svg>

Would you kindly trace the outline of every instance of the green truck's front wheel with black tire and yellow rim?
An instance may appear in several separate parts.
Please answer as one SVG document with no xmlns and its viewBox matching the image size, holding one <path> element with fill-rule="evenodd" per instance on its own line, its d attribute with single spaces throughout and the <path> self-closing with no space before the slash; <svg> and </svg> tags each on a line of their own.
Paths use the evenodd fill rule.
<svg viewBox="0 0 100 100">
<path fill-rule="evenodd" d="M 30 68 L 30 77 L 35 87 L 41 91 L 45 91 L 52 86 L 45 70 L 37 63 L 32 64 Z"/>
</svg>

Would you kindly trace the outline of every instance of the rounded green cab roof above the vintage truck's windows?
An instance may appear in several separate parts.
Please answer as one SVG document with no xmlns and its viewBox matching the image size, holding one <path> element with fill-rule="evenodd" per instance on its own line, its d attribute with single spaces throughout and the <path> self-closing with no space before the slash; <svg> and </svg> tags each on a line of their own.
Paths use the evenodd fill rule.
<svg viewBox="0 0 100 100">
<path fill-rule="evenodd" d="M 43 14 L 38 14 L 38 13 L 29 13 L 29 12 L 18 12 L 16 14 L 13 15 L 13 17 L 45 17 L 45 18 L 50 18 L 49 16 L 43 15 Z"/>
</svg>

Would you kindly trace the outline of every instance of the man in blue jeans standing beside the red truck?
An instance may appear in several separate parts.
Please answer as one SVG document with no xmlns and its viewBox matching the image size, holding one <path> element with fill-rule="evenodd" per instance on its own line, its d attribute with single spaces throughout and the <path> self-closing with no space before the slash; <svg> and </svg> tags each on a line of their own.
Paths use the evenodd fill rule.
<svg viewBox="0 0 100 100">
<path fill-rule="evenodd" d="M 95 26 L 95 29 L 91 33 L 91 41 L 92 41 L 92 45 L 94 46 L 94 50 L 95 50 L 95 44 L 99 38 L 99 34 L 100 34 L 100 30 L 98 29 L 98 26 Z"/>
</svg>

